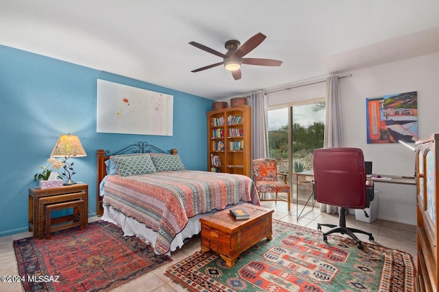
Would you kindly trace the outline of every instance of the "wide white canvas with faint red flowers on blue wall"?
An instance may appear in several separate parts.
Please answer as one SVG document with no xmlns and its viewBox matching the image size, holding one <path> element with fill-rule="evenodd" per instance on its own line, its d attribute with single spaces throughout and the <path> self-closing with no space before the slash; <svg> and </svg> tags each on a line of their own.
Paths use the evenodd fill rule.
<svg viewBox="0 0 439 292">
<path fill-rule="evenodd" d="M 172 135 L 174 96 L 97 79 L 97 132 Z"/>
</svg>

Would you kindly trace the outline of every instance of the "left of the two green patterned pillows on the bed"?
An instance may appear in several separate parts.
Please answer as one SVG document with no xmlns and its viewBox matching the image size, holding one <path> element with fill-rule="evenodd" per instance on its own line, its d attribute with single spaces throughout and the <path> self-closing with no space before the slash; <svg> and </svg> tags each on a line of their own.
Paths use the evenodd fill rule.
<svg viewBox="0 0 439 292">
<path fill-rule="evenodd" d="M 120 176 L 153 174 L 156 172 L 154 163 L 152 163 L 151 157 L 147 153 L 116 155 L 115 164 L 117 174 Z"/>
</svg>

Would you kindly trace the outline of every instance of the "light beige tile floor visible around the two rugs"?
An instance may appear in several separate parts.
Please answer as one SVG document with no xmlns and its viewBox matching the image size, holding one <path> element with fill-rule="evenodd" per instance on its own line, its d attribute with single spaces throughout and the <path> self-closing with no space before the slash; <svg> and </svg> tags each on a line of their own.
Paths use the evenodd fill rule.
<svg viewBox="0 0 439 292">
<path fill-rule="evenodd" d="M 300 226 L 307 226 L 308 228 L 317 229 L 317 223 L 338 224 L 338 216 L 326 213 L 320 213 L 319 209 L 315 207 L 313 211 L 296 220 L 296 204 L 292 203 L 291 211 L 287 211 L 287 204 L 283 202 L 261 202 L 263 207 L 274 209 L 273 218 Z M 311 210 L 311 207 L 306 207 L 305 212 Z M 299 210 L 300 212 L 300 210 Z M 100 220 L 99 217 L 88 218 L 89 222 Z M 394 248 L 409 252 L 412 254 L 413 261 L 416 263 L 416 226 L 390 222 L 385 220 L 375 220 L 372 223 L 360 222 L 355 220 L 355 215 L 348 215 L 346 225 L 349 227 L 359 228 L 361 230 L 368 230 L 375 237 L 375 243 L 383 245 L 387 248 Z M 326 230 L 323 227 L 323 231 Z M 9 235 L 0 237 L 0 276 L 15 276 L 18 274 L 16 265 L 16 258 L 14 249 L 12 248 L 12 241 L 24 237 L 30 237 L 32 233 L 19 233 L 16 235 Z M 359 235 L 361 241 L 368 241 L 367 235 Z M 187 289 L 172 282 L 165 276 L 165 270 L 170 265 L 178 263 L 178 261 L 190 256 L 191 254 L 200 250 L 200 237 L 195 236 L 191 239 L 181 250 L 177 250 L 171 254 L 172 262 L 151 271 L 144 276 L 117 287 L 112 291 L 187 291 Z M 0 282 L 0 291 L 23 291 L 20 283 L 3 283 Z"/>
</svg>

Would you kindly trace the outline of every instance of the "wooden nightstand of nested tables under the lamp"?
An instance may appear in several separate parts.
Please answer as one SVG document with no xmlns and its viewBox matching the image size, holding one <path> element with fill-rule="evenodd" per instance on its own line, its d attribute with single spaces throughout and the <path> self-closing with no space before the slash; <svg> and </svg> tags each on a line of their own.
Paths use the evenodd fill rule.
<svg viewBox="0 0 439 292">
<path fill-rule="evenodd" d="M 80 214 L 80 220 L 84 220 L 84 226 L 88 224 L 88 185 L 77 183 L 76 185 L 64 185 L 54 189 L 40 189 L 40 187 L 29 187 L 29 231 L 34 231 L 34 238 L 41 239 L 44 234 L 46 204 L 60 202 L 71 202 L 83 200 L 85 205 L 85 214 Z M 75 226 L 73 215 L 58 217 L 52 222 L 72 222 L 64 224 L 63 228 Z"/>
</svg>

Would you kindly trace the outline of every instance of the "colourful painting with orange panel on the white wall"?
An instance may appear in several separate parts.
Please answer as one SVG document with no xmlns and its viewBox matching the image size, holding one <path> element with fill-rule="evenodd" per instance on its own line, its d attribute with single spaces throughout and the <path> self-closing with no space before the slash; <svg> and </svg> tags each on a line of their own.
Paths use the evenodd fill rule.
<svg viewBox="0 0 439 292">
<path fill-rule="evenodd" d="M 418 141 L 418 93 L 366 98 L 368 144 Z"/>
</svg>

